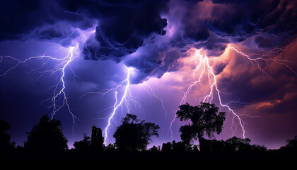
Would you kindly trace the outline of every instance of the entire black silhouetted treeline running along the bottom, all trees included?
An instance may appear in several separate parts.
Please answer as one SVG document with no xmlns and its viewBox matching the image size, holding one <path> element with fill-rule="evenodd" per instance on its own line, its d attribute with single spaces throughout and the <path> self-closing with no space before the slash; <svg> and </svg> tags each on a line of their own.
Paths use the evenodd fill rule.
<svg viewBox="0 0 297 170">
<path fill-rule="evenodd" d="M 251 145 L 250 139 L 231 137 L 224 140 L 206 140 L 204 135 L 213 136 L 222 130 L 225 113 L 219 113 L 214 104 L 200 103 L 190 106 L 188 103 L 180 106 L 177 118 L 189 120 L 191 123 L 180 127 L 180 142 L 167 142 L 161 146 L 147 149 L 151 137 L 158 137 L 159 126 L 137 119 L 136 115 L 127 114 L 122 119 L 122 125 L 115 130 L 115 143 L 105 146 L 100 128 L 92 127 L 91 137 L 84 135 L 81 141 L 74 142 L 74 148 L 69 149 L 66 137 L 62 132 L 59 120 L 50 120 L 47 115 L 27 132 L 24 146 L 16 146 L 11 142 L 11 136 L 6 133 L 10 126 L 0 120 L 0 157 L 6 159 L 122 159 L 122 158 L 280 158 L 296 159 L 297 136 L 287 140 L 287 144 L 279 149 L 267 149 L 260 145 Z M 199 145 L 193 145 L 194 140 Z"/>
</svg>

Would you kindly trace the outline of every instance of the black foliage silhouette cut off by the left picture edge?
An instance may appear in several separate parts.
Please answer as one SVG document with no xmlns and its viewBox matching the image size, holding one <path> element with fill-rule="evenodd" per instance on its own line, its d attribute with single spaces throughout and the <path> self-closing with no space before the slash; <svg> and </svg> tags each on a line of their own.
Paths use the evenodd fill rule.
<svg viewBox="0 0 297 170">
<path fill-rule="evenodd" d="M 15 142 L 11 142 L 11 135 L 5 131 L 10 129 L 10 125 L 0 120 L 0 153 L 12 152 L 15 149 Z"/>
</svg>

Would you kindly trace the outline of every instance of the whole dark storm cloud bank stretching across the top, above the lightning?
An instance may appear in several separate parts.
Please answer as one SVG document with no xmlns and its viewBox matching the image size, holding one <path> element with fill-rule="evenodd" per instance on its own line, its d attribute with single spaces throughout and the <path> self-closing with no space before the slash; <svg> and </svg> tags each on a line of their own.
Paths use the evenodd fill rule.
<svg viewBox="0 0 297 170">
<path fill-rule="evenodd" d="M 290 0 L 1 1 L 0 41 L 37 38 L 71 45 L 78 29 L 96 27 L 81 42 L 81 55 L 124 61 L 138 69 L 139 83 L 178 69 L 177 60 L 191 47 L 219 56 L 231 42 L 260 49 L 287 45 L 297 33 L 296 9 Z M 166 33 L 169 28 L 175 28 L 173 35 Z M 127 57 L 134 53 L 138 57 Z"/>
</svg>

